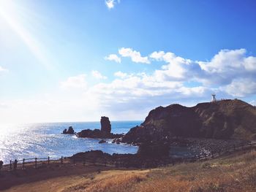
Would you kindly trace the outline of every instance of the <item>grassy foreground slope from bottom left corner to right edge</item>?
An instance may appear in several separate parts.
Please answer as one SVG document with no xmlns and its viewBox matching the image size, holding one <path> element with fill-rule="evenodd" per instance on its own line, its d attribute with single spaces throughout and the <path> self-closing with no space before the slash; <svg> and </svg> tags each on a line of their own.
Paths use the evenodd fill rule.
<svg viewBox="0 0 256 192">
<path fill-rule="evenodd" d="M 159 169 L 73 174 L 7 191 L 256 191 L 256 151 Z"/>
</svg>

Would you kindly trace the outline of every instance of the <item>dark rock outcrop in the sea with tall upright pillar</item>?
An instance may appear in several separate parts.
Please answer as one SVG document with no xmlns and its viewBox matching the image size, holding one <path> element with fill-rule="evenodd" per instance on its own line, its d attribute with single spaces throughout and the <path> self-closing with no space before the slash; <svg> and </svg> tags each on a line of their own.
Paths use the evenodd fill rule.
<svg viewBox="0 0 256 192">
<path fill-rule="evenodd" d="M 111 133 L 111 124 L 110 120 L 107 117 L 102 117 L 100 120 L 101 129 L 84 129 L 78 132 L 78 137 L 87 137 L 87 138 L 97 138 L 97 139 L 115 139 L 118 137 L 123 137 L 123 134 L 113 134 Z"/>
</svg>

